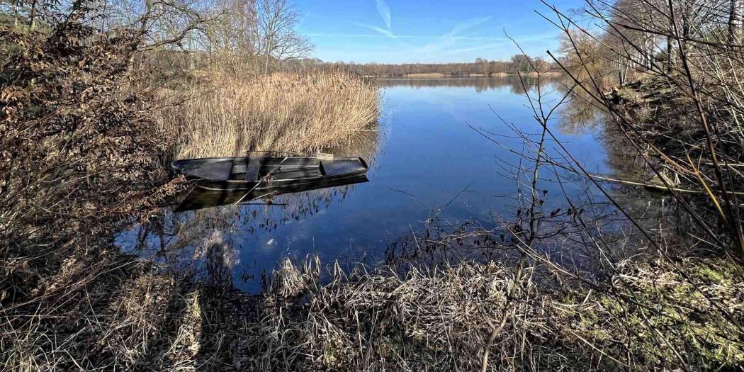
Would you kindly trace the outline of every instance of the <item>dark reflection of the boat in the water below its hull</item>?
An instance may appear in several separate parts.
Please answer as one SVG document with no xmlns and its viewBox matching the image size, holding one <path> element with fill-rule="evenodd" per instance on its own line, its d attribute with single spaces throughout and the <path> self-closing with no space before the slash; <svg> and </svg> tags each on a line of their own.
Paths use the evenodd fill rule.
<svg viewBox="0 0 744 372">
<path fill-rule="evenodd" d="M 359 183 L 369 182 L 366 175 L 347 177 L 326 182 L 315 182 L 310 185 L 299 185 L 292 187 L 278 187 L 270 190 L 256 190 L 251 193 L 245 191 L 228 191 L 228 190 L 202 190 L 196 188 L 186 199 L 176 208 L 176 212 L 198 211 L 199 209 L 214 208 L 220 205 L 231 204 L 249 204 L 261 200 L 265 204 L 274 204 L 275 196 L 301 193 L 310 190 L 321 190 L 330 187 L 339 187 L 347 185 L 356 185 Z"/>
</svg>

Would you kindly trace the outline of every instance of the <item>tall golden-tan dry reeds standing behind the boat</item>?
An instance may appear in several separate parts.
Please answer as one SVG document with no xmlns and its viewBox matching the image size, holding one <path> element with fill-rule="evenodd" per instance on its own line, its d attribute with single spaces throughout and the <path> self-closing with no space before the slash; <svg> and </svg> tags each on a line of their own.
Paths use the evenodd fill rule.
<svg viewBox="0 0 744 372">
<path fill-rule="evenodd" d="M 374 130 L 379 117 L 377 87 L 344 72 L 211 74 L 177 95 L 185 104 L 164 110 L 158 120 L 178 138 L 176 158 L 315 152 Z"/>
</svg>

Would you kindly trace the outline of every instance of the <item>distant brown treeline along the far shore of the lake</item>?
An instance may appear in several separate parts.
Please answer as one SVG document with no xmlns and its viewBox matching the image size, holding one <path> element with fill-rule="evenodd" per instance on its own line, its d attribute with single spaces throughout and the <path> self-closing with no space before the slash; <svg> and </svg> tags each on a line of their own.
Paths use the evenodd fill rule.
<svg viewBox="0 0 744 372">
<path fill-rule="evenodd" d="M 530 71 L 530 60 L 533 62 L 533 65 L 541 66 L 541 69 L 545 69 L 545 71 L 558 71 L 559 69 L 557 63 L 543 60 L 540 57 L 528 57 L 525 54 L 512 56 L 508 61 L 490 61 L 478 58 L 475 62 L 405 63 L 403 65 L 388 63 L 323 62 L 317 58 L 305 58 L 285 61 L 284 68 L 292 71 L 330 69 L 372 76 L 408 76 L 412 74 L 463 76 L 471 74 L 517 74 L 518 72 L 528 74 L 534 72 Z"/>
</svg>

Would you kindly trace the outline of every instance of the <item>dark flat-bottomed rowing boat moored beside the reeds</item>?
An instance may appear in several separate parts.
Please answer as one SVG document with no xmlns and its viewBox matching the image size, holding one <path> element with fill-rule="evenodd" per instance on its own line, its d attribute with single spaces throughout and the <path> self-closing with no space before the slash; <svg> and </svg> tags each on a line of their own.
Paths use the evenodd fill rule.
<svg viewBox="0 0 744 372">
<path fill-rule="evenodd" d="M 196 158 L 173 161 L 174 170 L 206 190 L 260 191 L 312 185 L 365 174 L 362 158 L 266 156 Z"/>
</svg>

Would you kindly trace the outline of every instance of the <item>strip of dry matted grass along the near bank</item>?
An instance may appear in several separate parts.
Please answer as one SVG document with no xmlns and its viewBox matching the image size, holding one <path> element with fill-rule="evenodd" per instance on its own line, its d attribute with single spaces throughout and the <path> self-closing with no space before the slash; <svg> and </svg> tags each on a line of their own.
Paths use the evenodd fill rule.
<svg viewBox="0 0 744 372">
<path fill-rule="evenodd" d="M 485 350 L 488 371 L 741 365 L 744 286 L 735 268 L 722 259 L 683 261 L 687 278 L 664 260 L 626 261 L 593 288 L 558 283 L 541 266 L 517 275 L 495 262 L 405 277 L 336 272 L 327 286 L 298 286 L 294 297 L 269 293 L 257 324 L 240 332 L 262 370 L 478 371 Z M 276 278 L 302 271 L 286 261 Z"/>
</svg>

